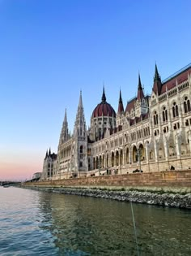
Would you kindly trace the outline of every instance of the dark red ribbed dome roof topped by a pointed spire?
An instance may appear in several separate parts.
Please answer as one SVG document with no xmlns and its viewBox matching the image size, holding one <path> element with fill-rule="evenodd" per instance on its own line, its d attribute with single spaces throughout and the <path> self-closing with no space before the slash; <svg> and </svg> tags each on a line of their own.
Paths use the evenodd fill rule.
<svg viewBox="0 0 191 256">
<path fill-rule="evenodd" d="M 92 117 L 98 117 L 98 116 L 111 116 L 116 117 L 116 112 L 112 108 L 112 106 L 106 102 L 105 93 L 103 90 L 102 98 L 100 104 L 98 104 L 95 108 L 95 110 L 92 113 Z"/>
</svg>

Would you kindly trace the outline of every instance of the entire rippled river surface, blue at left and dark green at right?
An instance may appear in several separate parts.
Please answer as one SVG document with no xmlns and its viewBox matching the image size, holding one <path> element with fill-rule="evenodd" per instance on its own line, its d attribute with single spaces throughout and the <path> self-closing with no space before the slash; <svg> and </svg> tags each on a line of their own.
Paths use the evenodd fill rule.
<svg viewBox="0 0 191 256">
<path fill-rule="evenodd" d="M 0 255 L 191 255 L 191 210 L 0 187 Z"/>
</svg>

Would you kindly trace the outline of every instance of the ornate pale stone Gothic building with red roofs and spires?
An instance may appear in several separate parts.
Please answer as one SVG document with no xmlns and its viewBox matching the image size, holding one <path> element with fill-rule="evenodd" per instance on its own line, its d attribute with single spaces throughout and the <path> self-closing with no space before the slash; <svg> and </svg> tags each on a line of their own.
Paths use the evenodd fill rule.
<svg viewBox="0 0 191 256">
<path fill-rule="evenodd" d="M 190 168 L 190 100 L 191 64 L 164 81 L 155 65 L 150 96 L 139 75 L 137 96 L 124 108 L 120 91 L 116 112 L 103 89 L 87 129 L 80 92 L 74 132 L 65 113 L 57 154 L 46 153 L 41 179 Z"/>
</svg>

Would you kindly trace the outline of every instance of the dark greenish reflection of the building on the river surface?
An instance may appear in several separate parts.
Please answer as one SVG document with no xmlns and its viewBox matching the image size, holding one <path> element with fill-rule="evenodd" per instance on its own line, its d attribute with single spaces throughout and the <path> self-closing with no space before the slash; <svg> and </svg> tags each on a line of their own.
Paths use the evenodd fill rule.
<svg viewBox="0 0 191 256">
<path fill-rule="evenodd" d="M 129 203 L 40 193 L 40 228 L 51 232 L 60 255 L 136 255 Z M 134 205 L 142 255 L 189 255 L 189 210 Z"/>
</svg>

